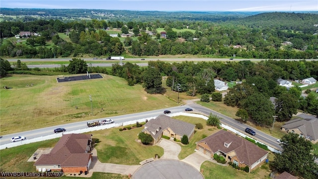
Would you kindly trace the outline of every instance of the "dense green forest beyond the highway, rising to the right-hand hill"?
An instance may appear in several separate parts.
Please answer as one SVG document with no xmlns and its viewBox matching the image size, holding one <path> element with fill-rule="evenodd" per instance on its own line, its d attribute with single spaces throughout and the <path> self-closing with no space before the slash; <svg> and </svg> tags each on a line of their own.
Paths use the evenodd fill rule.
<svg viewBox="0 0 318 179">
<path fill-rule="evenodd" d="M 13 37 L 20 31 L 36 32 L 40 36 L 28 37 L 26 43 L 2 39 L 0 49 L 1 56 L 25 58 L 80 57 L 84 54 L 191 54 L 226 58 L 317 59 L 317 19 L 318 14 L 272 12 L 222 23 L 178 20 L 126 23 L 98 19 L 4 21 L 0 26 L 3 38 Z M 118 37 L 111 37 L 108 28 L 131 35 L 121 41 Z M 158 28 L 164 29 L 165 38 L 161 38 Z M 65 33 L 71 41 L 64 40 L 58 33 Z M 47 47 L 48 42 L 54 45 Z"/>
</svg>

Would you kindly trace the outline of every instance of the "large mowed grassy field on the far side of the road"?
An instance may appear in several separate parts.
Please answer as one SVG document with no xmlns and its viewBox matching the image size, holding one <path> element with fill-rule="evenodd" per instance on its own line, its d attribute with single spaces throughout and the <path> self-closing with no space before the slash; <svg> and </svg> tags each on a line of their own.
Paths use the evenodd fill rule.
<svg viewBox="0 0 318 179">
<path fill-rule="evenodd" d="M 131 87 L 124 79 L 102 76 L 67 83 L 57 83 L 56 76 L 12 75 L 0 79 L 0 134 L 176 105 L 162 94 L 147 94 L 141 85 Z"/>
</svg>

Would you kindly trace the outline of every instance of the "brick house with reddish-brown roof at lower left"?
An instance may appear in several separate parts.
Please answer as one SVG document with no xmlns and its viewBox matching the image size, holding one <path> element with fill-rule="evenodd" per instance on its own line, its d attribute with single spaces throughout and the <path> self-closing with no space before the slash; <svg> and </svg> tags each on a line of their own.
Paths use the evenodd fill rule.
<svg viewBox="0 0 318 179">
<path fill-rule="evenodd" d="M 64 134 L 49 154 L 35 162 L 37 171 L 44 168 L 64 173 L 88 171 L 91 164 L 91 134 Z"/>
</svg>

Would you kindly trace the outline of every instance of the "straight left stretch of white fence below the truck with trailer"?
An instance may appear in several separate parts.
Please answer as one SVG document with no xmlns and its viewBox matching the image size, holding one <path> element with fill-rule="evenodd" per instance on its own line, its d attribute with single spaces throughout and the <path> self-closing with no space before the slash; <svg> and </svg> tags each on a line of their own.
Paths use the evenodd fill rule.
<svg viewBox="0 0 318 179">
<path fill-rule="evenodd" d="M 137 121 L 138 122 L 145 122 L 147 119 L 150 120 L 150 119 L 153 119 L 153 118 L 156 118 L 156 117 L 157 116 L 150 117 L 150 118 L 127 121 L 127 122 L 123 122 L 123 123 L 112 123 L 112 124 L 106 124 L 106 125 L 99 125 L 99 126 L 95 126 L 95 127 L 86 127 L 86 128 L 83 128 L 83 129 L 63 132 L 63 134 L 73 134 L 73 133 L 74 134 L 79 134 L 79 133 L 84 133 L 84 132 L 91 132 L 91 131 L 109 129 L 109 128 L 113 128 L 113 127 L 126 126 L 126 125 L 136 124 Z M 23 144 L 30 144 L 30 143 L 33 143 L 33 142 L 39 142 L 39 141 L 59 138 L 59 137 L 62 137 L 62 133 L 55 133 L 55 134 L 50 134 L 50 135 L 46 135 L 46 136 L 36 137 L 36 138 L 33 138 L 33 139 L 26 139 L 26 140 L 23 140 L 23 141 L 11 142 L 11 143 L 8 143 L 8 144 L 0 145 L 0 150 L 6 149 L 6 148 L 20 146 L 20 145 L 23 145 Z"/>
</svg>

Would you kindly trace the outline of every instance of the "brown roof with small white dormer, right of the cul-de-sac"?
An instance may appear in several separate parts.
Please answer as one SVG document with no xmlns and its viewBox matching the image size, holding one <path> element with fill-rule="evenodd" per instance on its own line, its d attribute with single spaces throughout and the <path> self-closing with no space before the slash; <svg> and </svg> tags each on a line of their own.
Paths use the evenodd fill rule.
<svg viewBox="0 0 318 179">
<path fill-rule="evenodd" d="M 228 154 L 232 151 L 235 151 L 239 161 L 248 166 L 251 166 L 268 154 L 267 151 L 259 148 L 255 144 L 225 130 L 220 130 L 219 132 L 212 134 L 197 143 L 200 142 L 205 142 L 213 153 L 221 151 L 225 154 Z M 225 142 L 230 145 L 225 147 Z"/>
</svg>

